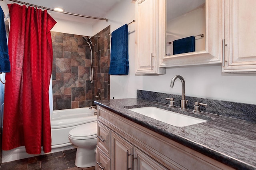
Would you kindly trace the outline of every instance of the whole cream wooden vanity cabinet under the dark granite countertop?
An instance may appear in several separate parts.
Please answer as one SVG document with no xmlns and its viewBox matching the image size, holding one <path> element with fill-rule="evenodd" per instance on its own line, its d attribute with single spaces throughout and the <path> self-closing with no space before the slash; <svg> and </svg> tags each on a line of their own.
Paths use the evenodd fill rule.
<svg viewBox="0 0 256 170">
<path fill-rule="evenodd" d="M 110 140 L 98 138 L 96 169 L 99 165 L 104 170 L 232 169 L 100 106 L 97 115 L 97 135 L 108 129 Z M 110 146 L 104 146 L 105 141 L 110 142 Z"/>
</svg>

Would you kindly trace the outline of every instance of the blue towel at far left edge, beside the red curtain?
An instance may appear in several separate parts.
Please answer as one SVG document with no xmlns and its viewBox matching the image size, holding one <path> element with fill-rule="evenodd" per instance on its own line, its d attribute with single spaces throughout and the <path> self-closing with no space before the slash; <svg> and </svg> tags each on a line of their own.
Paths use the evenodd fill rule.
<svg viewBox="0 0 256 170">
<path fill-rule="evenodd" d="M 10 72 L 7 38 L 4 24 L 4 12 L 0 6 L 0 72 Z"/>
</svg>

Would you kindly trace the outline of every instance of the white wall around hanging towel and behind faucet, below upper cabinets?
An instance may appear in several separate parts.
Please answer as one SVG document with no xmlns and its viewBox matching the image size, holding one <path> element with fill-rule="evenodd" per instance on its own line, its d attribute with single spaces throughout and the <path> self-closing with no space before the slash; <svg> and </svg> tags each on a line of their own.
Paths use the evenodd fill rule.
<svg viewBox="0 0 256 170">
<path fill-rule="evenodd" d="M 135 19 L 135 3 L 123 0 L 108 15 L 109 22 L 99 21 L 93 26 L 93 34 L 108 25 L 111 32 Z M 136 97 L 136 89 L 164 93 L 181 93 L 181 83 L 177 80 L 170 88 L 174 75 L 181 75 L 186 82 L 186 95 L 240 103 L 256 104 L 256 73 L 227 74 L 221 72 L 220 65 L 199 65 L 167 68 L 165 75 L 135 75 L 135 24 L 129 25 L 129 75 L 110 76 L 110 97 Z M 221 43 L 221 42 L 220 42 Z"/>
</svg>

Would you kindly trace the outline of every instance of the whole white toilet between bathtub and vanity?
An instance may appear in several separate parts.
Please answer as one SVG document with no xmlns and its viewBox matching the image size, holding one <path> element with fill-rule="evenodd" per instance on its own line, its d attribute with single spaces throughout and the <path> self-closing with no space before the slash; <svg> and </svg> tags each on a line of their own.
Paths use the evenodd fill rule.
<svg viewBox="0 0 256 170">
<path fill-rule="evenodd" d="M 95 166 L 97 122 L 79 125 L 70 130 L 68 138 L 77 146 L 75 165 L 79 168 Z"/>
</svg>

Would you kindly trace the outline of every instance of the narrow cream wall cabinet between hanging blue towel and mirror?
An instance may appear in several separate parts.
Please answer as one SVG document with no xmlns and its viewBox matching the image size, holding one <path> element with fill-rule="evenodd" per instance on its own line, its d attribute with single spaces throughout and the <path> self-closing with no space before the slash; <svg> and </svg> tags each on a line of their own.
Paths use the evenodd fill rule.
<svg viewBox="0 0 256 170">
<path fill-rule="evenodd" d="M 161 40 L 159 30 L 164 24 L 160 16 L 165 10 L 160 10 L 163 0 L 136 1 L 136 74 L 165 74 L 165 68 L 159 68 L 159 45 Z"/>
</svg>

